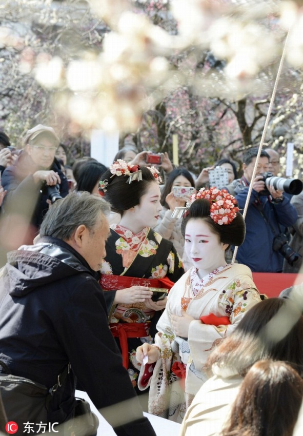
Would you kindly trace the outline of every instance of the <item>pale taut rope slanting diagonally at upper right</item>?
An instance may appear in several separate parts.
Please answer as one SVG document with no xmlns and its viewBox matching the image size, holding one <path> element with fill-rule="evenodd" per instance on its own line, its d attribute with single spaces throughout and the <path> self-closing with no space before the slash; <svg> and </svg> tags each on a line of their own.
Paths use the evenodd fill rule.
<svg viewBox="0 0 303 436">
<path fill-rule="evenodd" d="M 263 129 L 263 132 L 262 132 L 261 141 L 260 141 L 260 145 L 259 145 L 259 148 L 258 148 L 258 153 L 257 153 L 257 156 L 256 156 L 256 162 L 255 162 L 255 166 L 254 166 L 254 170 L 253 170 L 253 173 L 252 173 L 251 180 L 254 180 L 254 178 L 256 176 L 257 166 L 258 166 L 258 163 L 259 163 L 259 158 L 260 158 L 261 150 L 262 150 L 262 147 L 263 147 L 263 144 L 264 144 L 265 135 L 266 135 L 268 124 L 269 124 L 269 119 L 270 119 L 272 107 L 273 107 L 273 104 L 274 104 L 274 100 L 275 100 L 275 96 L 276 96 L 276 91 L 277 91 L 277 87 L 278 87 L 278 82 L 279 82 L 279 78 L 280 78 L 282 67 L 283 67 L 284 60 L 285 60 L 288 36 L 289 36 L 289 31 L 288 31 L 288 33 L 286 35 L 284 49 L 283 49 L 283 52 L 282 52 L 282 56 L 281 56 L 281 60 L 280 60 L 280 65 L 279 65 L 278 72 L 277 72 L 277 75 L 276 75 L 276 80 L 275 80 L 272 96 L 271 96 L 271 99 L 270 99 L 269 108 L 268 108 L 268 112 L 267 112 L 267 116 L 266 116 L 266 120 L 265 120 L 264 129 Z M 248 209 L 248 206 L 249 206 L 251 191 L 252 191 L 252 183 L 249 184 L 247 199 L 246 199 L 246 203 L 245 203 L 245 206 L 244 206 L 244 211 L 243 211 L 243 218 L 244 218 L 244 220 L 245 220 L 247 209 Z M 235 247 L 233 258 L 232 258 L 232 261 L 231 261 L 232 264 L 235 263 L 237 251 L 238 251 L 238 247 Z"/>
</svg>

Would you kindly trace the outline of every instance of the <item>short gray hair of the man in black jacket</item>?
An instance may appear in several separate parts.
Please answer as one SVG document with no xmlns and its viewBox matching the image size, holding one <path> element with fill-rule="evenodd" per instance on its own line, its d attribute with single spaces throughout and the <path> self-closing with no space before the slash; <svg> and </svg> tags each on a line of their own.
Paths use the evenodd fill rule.
<svg viewBox="0 0 303 436">
<path fill-rule="evenodd" d="M 110 213 L 110 204 L 98 194 L 71 192 L 57 200 L 48 210 L 40 228 L 40 236 L 57 237 L 69 241 L 78 226 L 93 230 L 100 220 L 100 212 Z"/>
</svg>

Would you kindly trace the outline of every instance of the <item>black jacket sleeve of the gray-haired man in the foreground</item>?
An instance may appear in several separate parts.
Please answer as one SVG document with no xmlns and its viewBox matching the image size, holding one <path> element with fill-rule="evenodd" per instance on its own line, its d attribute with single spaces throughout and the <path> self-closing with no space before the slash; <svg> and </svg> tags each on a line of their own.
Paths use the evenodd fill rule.
<svg viewBox="0 0 303 436">
<path fill-rule="evenodd" d="M 80 282 L 56 323 L 73 371 L 118 436 L 154 436 L 108 327 L 103 292 L 93 279 Z"/>
</svg>

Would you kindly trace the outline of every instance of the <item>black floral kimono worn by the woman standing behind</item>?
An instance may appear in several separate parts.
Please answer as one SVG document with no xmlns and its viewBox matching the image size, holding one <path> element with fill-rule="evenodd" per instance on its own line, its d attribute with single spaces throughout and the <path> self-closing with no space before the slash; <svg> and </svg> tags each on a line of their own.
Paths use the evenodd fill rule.
<svg viewBox="0 0 303 436">
<path fill-rule="evenodd" d="M 140 366 L 135 359 L 136 348 L 144 342 L 153 342 L 156 334 L 155 326 L 162 311 L 155 312 L 148 309 L 144 303 L 113 306 L 115 291 L 138 284 L 151 286 L 149 279 L 167 277 L 175 283 L 183 275 L 184 269 L 173 244 L 149 227 L 144 228 L 136 235 L 117 224 L 110 227 L 111 236 L 106 243 L 107 255 L 100 270 L 102 273 L 100 284 L 105 289 L 104 294 L 112 332 L 114 332 L 115 326 L 118 329 L 121 324 L 129 324 L 124 329 L 132 330 L 132 337 L 127 338 L 128 372 L 132 384 L 137 390 Z M 128 286 L 119 286 L 117 276 L 129 277 Z M 140 282 L 138 278 L 141 279 Z M 119 339 L 115 339 L 118 347 L 122 350 Z"/>
</svg>

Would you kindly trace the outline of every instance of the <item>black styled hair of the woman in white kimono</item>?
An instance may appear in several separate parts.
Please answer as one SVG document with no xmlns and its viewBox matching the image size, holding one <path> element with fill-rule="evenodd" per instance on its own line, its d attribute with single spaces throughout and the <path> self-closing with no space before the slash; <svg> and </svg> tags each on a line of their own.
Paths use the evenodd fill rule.
<svg viewBox="0 0 303 436">
<path fill-rule="evenodd" d="M 210 230 L 219 236 L 220 242 L 228 245 L 239 246 L 245 239 L 245 221 L 243 216 L 237 212 L 237 216 L 230 224 L 219 225 L 214 223 L 210 217 L 211 204 L 206 199 L 195 200 L 189 208 L 188 214 L 182 222 L 182 234 L 185 235 L 185 228 L 190 220 L 201 219 L 209 226 Z"/>
</svg>

